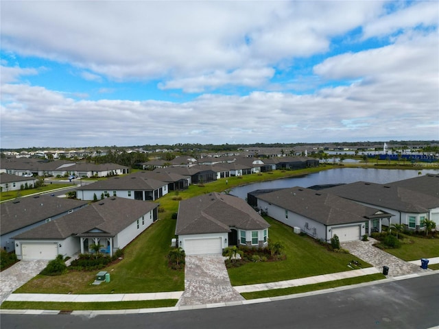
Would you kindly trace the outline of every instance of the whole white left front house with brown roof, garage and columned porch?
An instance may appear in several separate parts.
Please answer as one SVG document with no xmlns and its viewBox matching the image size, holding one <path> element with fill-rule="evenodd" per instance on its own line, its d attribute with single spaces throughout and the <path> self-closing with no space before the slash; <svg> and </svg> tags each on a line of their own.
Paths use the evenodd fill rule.
<svg viewBox="0 0 439 329">
<path fill-rule="evenodd" d="M 110 197 L 14 236 L 19 259 L 54 259 L 91 253 L 91 245 L 112 256 L 156 219 L 158 204 Z"/>
</svg>

